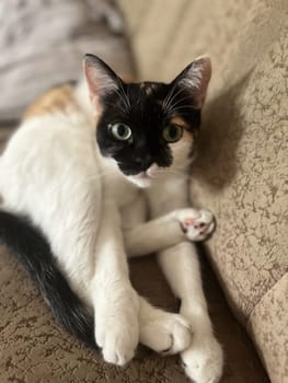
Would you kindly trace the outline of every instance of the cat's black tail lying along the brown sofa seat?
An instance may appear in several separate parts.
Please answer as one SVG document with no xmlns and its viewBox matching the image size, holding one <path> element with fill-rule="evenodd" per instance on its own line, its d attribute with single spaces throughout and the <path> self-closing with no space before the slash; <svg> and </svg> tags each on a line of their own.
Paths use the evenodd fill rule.
<svg viewBox="0 0 288 383">
<path fill-rule="evenodd" d="M 62 326 L 88 346 L 96 348 L 94 320 L 58 269 L 50 246 L 27 220 L 0 211 L 0 243 L 24 266 Z"/>
</svg>

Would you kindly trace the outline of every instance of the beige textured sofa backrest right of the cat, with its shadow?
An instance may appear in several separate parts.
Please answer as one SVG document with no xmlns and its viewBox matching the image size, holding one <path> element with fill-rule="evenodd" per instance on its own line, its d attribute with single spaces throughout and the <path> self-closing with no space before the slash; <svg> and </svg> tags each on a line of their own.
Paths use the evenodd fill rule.
<svg viewBox="0 0 288 383">
<path fill-rule="evenodd" d="M 170 81 L 194 57 L 211 56 L 192 198 L 217 217 L 208 244 L 211 264 L 238 318 L 249 328 L 253 324 L 250 334 L 273 382 L 283 383 L 288 379 L 288 338 L 280 332 L 288 327 L 281 295 L 288 271 L 288 2 L 118 3 L 140 78 Z M 283 297 L 279 310 L 265 299 L 270 294 Z"/>
</svg>

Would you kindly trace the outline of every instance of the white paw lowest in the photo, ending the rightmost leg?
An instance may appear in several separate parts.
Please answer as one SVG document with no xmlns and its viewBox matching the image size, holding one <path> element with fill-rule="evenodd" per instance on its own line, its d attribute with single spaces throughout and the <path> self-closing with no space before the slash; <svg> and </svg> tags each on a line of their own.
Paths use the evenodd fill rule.
<svg viewBox="0 0 288 383">
<path fill-rule="evenodd" d="M 223 352 L 212 335 L 195 335 L 192 346 L 181 355 L 185 373 L 195 383 L 219 382 Z"/>
</svg>

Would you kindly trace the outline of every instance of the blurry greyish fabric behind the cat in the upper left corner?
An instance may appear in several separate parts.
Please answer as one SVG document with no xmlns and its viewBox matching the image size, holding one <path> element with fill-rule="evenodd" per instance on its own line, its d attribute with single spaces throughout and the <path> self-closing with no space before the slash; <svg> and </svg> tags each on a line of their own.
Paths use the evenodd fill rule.
<svg viewBox="0 0 288 383">
<path fill-rule="evenodd" d="M 87 53 L 131 73 L 120 24 L 106 0 L 1 0 L 0 119 L 20 117 L 49 86 L 77 80 Z"/>
</svg>

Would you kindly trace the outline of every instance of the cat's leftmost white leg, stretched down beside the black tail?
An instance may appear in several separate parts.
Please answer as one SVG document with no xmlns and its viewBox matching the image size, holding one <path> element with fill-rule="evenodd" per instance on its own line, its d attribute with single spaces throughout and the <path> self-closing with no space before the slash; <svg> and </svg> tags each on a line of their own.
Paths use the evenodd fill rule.
<svg viewBox="0 0 288 383">
<path fill-rule="evenodd" d="M 118 211 L 113 201 L 106 201 L 103 210 L 91 285 L 95 337 L 104 359 L 123 365 L 139 341 L 139 298 L 128 276 Z"/>
</svg>

